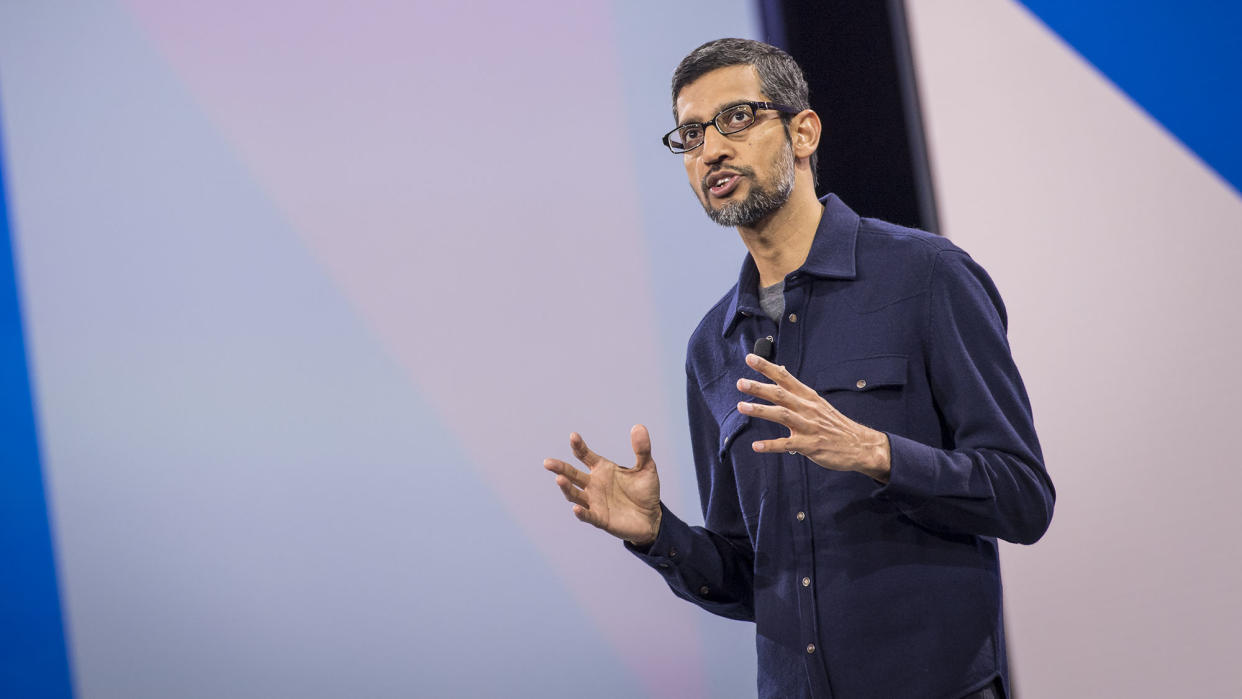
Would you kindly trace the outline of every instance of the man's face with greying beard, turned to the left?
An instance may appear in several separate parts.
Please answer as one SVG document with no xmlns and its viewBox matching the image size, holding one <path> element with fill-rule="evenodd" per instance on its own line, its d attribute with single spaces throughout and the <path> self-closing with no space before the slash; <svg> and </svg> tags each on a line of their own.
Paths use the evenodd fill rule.
<svg viewBox="0 0 1242 699">
<path fill-rule="evenodd" d="M 677 94 L 678 124 L 709 122 L 738 102 L 768 102 L 750 66 L 712 71 Z M 755 114 L 735 134 L 705 129 L 703 145 L 686 153 L 686 175 L 703 210 L 722 226 L 750 226 L 780 209 L 794 191 L 794 148 L 777 112 Z"/>
</svg>

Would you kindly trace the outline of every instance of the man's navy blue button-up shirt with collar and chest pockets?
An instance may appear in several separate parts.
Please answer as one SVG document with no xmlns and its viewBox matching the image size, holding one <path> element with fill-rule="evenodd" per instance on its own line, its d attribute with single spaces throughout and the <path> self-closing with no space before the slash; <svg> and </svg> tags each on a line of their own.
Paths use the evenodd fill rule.
<svg viewBox="0 0 1242 699">
<path fill-rule="evenodd" d="M 640 557 L 673 592 L 755 622 L 760 697 L 958 698 L 1007 685 L 996 539 L 1052 519 L 1031 406 L 991 279 L 945 238 L 859 219 L 833 195 L 780 323 L 746 256 L 686 360 L 704 526 L 667 508 Z M 797 454 L 755 453 L 789 431 L 741 415 L 744 361 L 776 364 L 888 435 L 879 484 Z M 632 549 L 632 548 L 631 548 Z"/>
</svg>

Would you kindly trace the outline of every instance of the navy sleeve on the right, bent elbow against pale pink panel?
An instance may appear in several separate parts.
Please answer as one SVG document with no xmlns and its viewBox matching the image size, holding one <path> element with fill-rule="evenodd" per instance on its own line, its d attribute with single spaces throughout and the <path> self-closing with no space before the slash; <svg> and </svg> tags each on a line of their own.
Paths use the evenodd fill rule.
<svg viewBox="0 0 1242 699">
<path fill-rule="evenodd" d="M 982 267 L 950 250 L 933 264 L 928 305 L 927 370 L 950 448 L 889 433 L 889 482 L 874 495 L 930 529 L 1033 544 L 1056 490 L 1000 294 Z"/>
</svg>

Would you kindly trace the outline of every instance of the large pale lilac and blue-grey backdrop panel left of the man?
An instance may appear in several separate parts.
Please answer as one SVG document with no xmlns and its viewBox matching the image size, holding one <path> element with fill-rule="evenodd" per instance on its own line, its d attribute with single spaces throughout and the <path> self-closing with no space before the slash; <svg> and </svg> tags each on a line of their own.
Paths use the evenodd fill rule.
<svg viewBox="0 0 1242 699">
<path fill-rule="evenodd" d="M 744 251 L 660 137 L 728 35 L 749 2 L 0 5 L 77 695 L 754 692 L 753 627 L 542 467 L 645 422 L 700 520 L 683 351 Z"/>
</svg>

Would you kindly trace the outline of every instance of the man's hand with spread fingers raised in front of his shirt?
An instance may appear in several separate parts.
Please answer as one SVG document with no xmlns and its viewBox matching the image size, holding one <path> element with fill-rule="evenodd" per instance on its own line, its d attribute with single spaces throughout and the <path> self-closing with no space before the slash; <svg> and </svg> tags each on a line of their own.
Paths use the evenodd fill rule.
<svg viewBox="0 0 1242 699">
<path fill-rule="evenodd" d="M 784 366 L 756 354 L 748 354 L 746 364 L 774 384 L 739 379 L 738 390 L 773 405 L 741 401 L 738 411 L 789 427 L 789 437 L 754 442 L 753 449 L 797 452 L 823 468 L 857 471 L 881 483 L 888 482 L 892 458 L 888 435 L 850 420 Z"/>
</svg>

